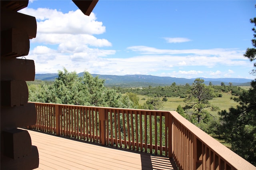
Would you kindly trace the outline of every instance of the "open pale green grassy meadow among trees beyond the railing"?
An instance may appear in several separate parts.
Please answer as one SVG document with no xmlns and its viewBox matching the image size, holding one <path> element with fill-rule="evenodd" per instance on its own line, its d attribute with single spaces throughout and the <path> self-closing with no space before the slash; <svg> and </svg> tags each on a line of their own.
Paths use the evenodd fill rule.
<svg viewBox="0 0 256 170">
<path fill-rule="evenodd" d="M 140 100 L 139 104 L 143 105 L 147 101 L 149 97 L 144 95 L 137 95 Z M 231 100 L 230 97 L 232 97 L 231 93 L 222 93 L 222 97 L 216 97 L 210 100 L 210 103 L 214 106 L 217 106 L 220 108 L 220 110 L 228 110 L 230 107 L 235 107 L 238 105 L 235 101 Z M 146 100 L 141 100 L 142 98 L 145 98 Z M 161 98 L 160 98 L 161 99 Z M 161 110 L 165 111 L 174 111 L 177 109 L 178 105 L 185 106 L 184 99 L 180 97 L 167 97 L 168 101 L 164 102 L 164 108 Z M 214 116 L 218 115 L 218 111 L 211 111 L 211 114 Z"/>
</svg>

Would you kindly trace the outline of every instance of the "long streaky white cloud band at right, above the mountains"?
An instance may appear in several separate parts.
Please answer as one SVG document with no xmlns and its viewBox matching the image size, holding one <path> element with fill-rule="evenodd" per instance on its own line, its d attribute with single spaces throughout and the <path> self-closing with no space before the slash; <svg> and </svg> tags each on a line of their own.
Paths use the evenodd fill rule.
<svg viewBox="0 0 256 170">
<path fill-rule="evenodd" d="M 147 46 L 131 46 L 128 50 L 140 53 L 140 57 L 166 60 L 180 66 L 246 66 L 244 51 L 237 49 L 157 49 Z"/>
</svg>

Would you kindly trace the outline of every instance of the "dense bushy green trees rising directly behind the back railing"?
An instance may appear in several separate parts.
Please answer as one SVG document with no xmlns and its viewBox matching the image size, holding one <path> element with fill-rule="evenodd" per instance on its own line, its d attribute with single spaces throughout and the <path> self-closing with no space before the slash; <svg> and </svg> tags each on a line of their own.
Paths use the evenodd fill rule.
<svg viewBox="0 0 256 170">
<path fill-rule="evenodd" d="M 139 105 L 139 98 L 135 93 L 118 93 L 115 89 L 104 87 L 104 79 L 93 77 L 85 71 L 79 77 L 75 71 L 58 71 L 58 78 L 54 82 L 28 82 L 29 101 L 42 103 L 59 103 L 68 105 L 86 105 L 131 109 L 161 109 L 160 99 L 148 99 Z"/>
</svg>

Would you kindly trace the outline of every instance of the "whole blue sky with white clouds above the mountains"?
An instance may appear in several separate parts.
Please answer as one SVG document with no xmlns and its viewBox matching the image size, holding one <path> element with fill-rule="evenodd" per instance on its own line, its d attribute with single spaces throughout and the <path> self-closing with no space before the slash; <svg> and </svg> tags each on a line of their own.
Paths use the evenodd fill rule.
<svg viewBox="0 0 256 170">
<path fill-rule="evenodd" d="M 256 1 L 99 0 L 85 16 L 71 0 L 33 0 L 36 73 L 248 78 Z"/>
</svg>

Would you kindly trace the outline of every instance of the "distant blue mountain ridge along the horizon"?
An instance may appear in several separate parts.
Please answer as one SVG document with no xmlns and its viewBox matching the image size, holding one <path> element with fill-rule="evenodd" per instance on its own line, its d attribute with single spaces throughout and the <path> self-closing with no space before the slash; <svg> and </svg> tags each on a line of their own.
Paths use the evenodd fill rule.
<svg viewBox="0 0 256 170">
<path fill-rule="evenodd" d="M 78 73 L 78 76 L 82 76 L 83 73 Z M 146 87 L 146 86 L 164 86 L 171 85 L 172 83 L 176 83 L 176 85 L 185 85 L 186 83 L 192 84 L 196 78 L 185 79 L 185 78 L 176 78 L 176 77 L 160 77 L 154 75 L 99 75 L 92 74 L 92 76 L 98 76 L 100 79 L 105 79 L 106 86 L 121 86 L 121 87 Z M 54 81 L 58 78 L 58 73 L 46 73 L 46 74 L 36 74 L 35 79 L 42 81 Z M 199 77 L 200 79 L 204 79 L 204 83 L 208 85 L 212 82 L 213 85 L 220 85 L 220 83 L 224 83 L 228 85 L 232 83 L 232 85 L 236 86 L 249 86 L 251 79 L 244 78 L 204 78 Z"/>
</svg>

